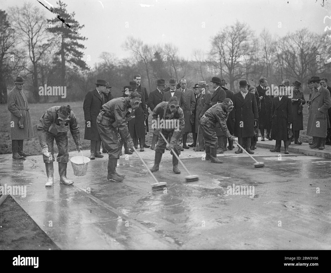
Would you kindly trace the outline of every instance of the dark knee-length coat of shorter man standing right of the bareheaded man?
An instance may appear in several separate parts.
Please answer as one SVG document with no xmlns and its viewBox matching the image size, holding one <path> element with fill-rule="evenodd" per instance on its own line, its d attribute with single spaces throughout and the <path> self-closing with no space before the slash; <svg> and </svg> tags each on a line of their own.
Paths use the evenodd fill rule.
<svg viewBox="0 0 331 273">
<path fill-rule="evenodd" d="M 263 103 L 263 102 L 262 102 Z M 292 102 L 291 99 L 282 96 L 275 97 L 271 106 L 271 138 L 275 140 L 288 139 L 288 122 L 292 122 Z"/>
</svg>

